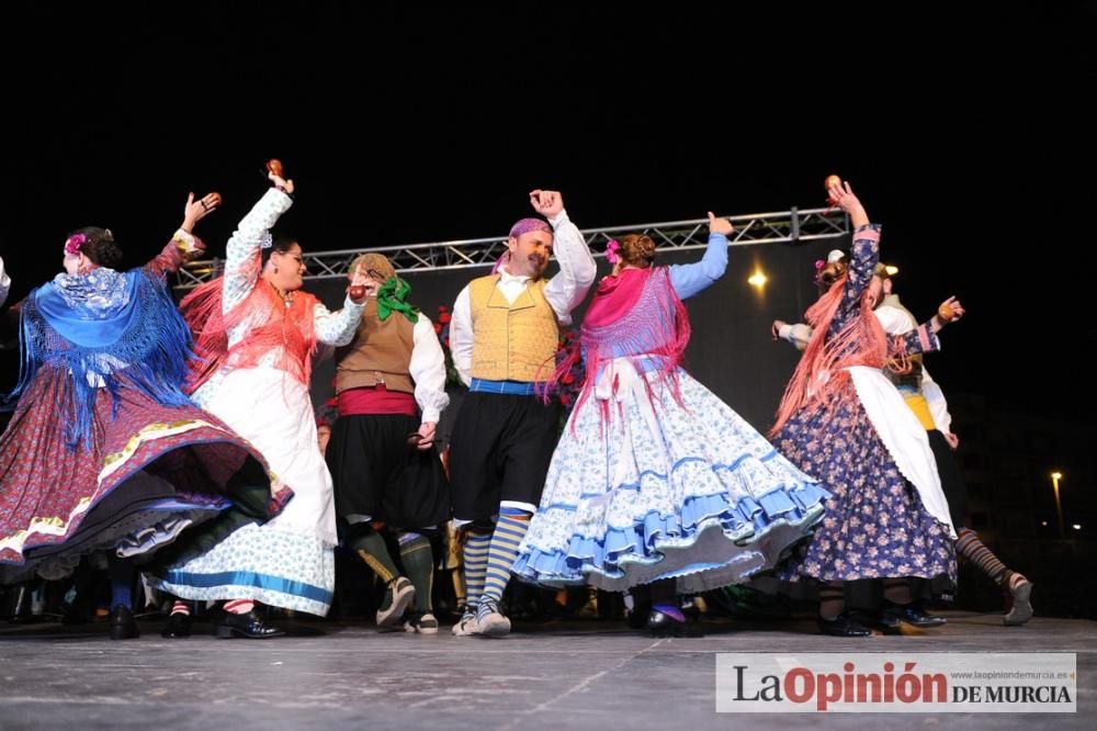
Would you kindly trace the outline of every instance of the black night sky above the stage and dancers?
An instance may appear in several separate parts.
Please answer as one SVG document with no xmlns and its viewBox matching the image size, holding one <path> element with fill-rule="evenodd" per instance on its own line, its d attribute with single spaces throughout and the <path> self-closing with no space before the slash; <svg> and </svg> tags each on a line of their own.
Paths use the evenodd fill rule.
<svg viewBox="0 0 1097 731">
<path fill-rule="evenodd" d="M 199 232 L 222 247 L 271 156 L 312 249 L 501 234 L 532 187 L 580 226 L 815 206 L 837 172 L 907 304 L 968 305 L 935 364 L 947 389 L 1088 418 L 1097 4 L 886 3 L 856 26 L 848 4 L 589 4 L 11 5 L 14 296 L 77 226 L 140 263 L 189 190 L 225 195 Z"/>
</svg>

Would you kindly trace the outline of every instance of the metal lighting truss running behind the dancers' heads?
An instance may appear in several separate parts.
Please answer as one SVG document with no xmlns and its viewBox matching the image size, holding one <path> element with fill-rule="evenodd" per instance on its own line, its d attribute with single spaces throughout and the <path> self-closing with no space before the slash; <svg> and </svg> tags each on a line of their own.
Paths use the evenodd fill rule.
<svg viewBox="0 0 1097 731">
<path fill-rule="evenodd" d="M 735 232 L 731 246 L 754 244 L 799 244 L 816 239 L 838 238 L 849 234 L 849 217 L 839 209 L 791 209 L 774 213 L 753 213 L 730 216 Z M 704 248 L 709 240 L 709 220 L 670 221 L 666 223 L 585 228 L 583 235 L 595 257 L 604 257 L 606 244 L 622 234 L 644 233 L 655 239 L 660 251 Z M 369 249 L 306 252 L 308 267 L 305 279 L 340 279 L 347 275 L 351 262 L 367 251 L 388 257 L 399 273 L 468 269 L 494 265 L 507 250 L 506 238 L 468 238 L 455 241 L 381 246 Z M 217 278 L 224 259 L 192 261 L 178 273 L 177 290 L 189 290 Z"/>
</svg>

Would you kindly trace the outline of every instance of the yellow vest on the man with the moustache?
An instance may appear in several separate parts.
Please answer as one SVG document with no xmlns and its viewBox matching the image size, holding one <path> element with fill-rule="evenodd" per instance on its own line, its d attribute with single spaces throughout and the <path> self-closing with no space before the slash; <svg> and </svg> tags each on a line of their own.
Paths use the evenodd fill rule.
<svg viewBox="0 0 1097 731">
<path fill-rule="evenodd" d="M 548 283 L 530 282 L 513 303 L 496 286 L 498 274 L 468 284 L 473 318 L 472 376 L 488 381 L 545 381 L 555 369 L 559 324 L 545 300 Z M 542 368 L 543 367 L 543 368 Z"/>
</svg>

